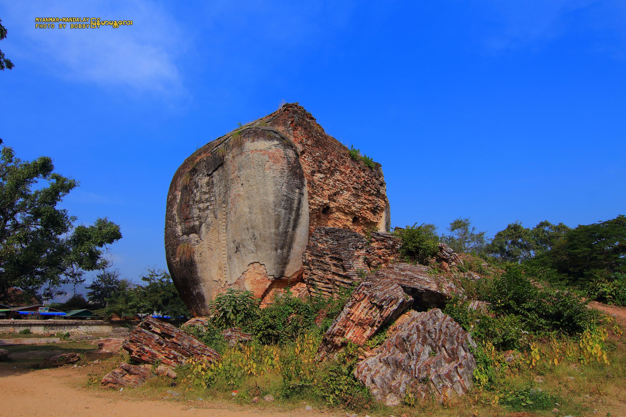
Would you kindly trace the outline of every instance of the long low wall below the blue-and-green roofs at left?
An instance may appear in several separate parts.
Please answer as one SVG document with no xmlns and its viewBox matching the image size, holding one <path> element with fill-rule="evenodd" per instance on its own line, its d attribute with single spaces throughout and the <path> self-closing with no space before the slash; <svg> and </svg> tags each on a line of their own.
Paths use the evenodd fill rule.
<svg viewBox="0 0 626 417">
<path fill-rule="evenodd" d="M 29 329 L 31 333 L 58 333 L 62 331 L 80 330 L 85 333 L 110 333 L 113 329 L 130 324 L 136 326 L 139 321 L 122 320 L 0 320 L 0 333 L 13 328 L 15 333 Z"/>
</svg>

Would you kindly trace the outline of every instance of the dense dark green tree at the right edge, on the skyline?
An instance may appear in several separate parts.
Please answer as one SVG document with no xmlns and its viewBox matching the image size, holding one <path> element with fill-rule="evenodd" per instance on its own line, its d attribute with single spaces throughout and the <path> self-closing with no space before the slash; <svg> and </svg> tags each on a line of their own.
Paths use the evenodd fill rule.
<svg viewBox="0 0 626 417">
<path fill-rule="evenodd" d="M 579 224 L 536 261 L 578 284 L 626 273 L 626 217 Z"/>
</svg>

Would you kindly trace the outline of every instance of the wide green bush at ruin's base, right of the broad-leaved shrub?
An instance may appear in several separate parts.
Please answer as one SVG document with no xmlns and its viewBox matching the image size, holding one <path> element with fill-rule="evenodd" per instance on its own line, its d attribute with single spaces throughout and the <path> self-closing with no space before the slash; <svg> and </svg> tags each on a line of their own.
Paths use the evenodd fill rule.
<svg viewBox="0 0 626 417">
<path fill-rule="evenodd" d="M 315 326 L 315 311 L 310 303 L 295 298 L 291 291 L 276 294 L 274 303 L 260 309 L 258 318 L 249 329 L 260 343 L 292 342 Z"/>
</svg>

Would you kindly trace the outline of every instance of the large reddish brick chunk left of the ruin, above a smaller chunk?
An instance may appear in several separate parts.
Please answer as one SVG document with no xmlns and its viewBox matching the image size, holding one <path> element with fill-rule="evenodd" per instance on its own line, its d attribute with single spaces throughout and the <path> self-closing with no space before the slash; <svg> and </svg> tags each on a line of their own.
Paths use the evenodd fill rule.
<svg viewBox="0 0 626 417">
<path fill-rule="evenodd" d="M 130 332 L 122 347 L 131 358 L 141 363 L 160 361 L 175 367 L 189 358 L 208 362 L 222 360 L 222 356 L 215 350 L 190 334 L 150 316 Z"/>
</svg>

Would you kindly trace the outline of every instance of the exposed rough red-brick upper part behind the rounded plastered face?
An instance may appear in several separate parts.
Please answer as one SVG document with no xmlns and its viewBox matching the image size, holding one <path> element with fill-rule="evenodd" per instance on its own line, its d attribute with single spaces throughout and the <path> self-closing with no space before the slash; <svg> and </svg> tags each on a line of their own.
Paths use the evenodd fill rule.
<svg viewBox="0 0 626 417">
<path fill-rule="evenodd" d="M 366 234 L 389 231 L 390 210 L 380 164 L 367 168 L 302 106 L 285 104 L 262 119 L 294 142 L 309 191 L 309 234 L 317 226 Z"/>
</svg>

